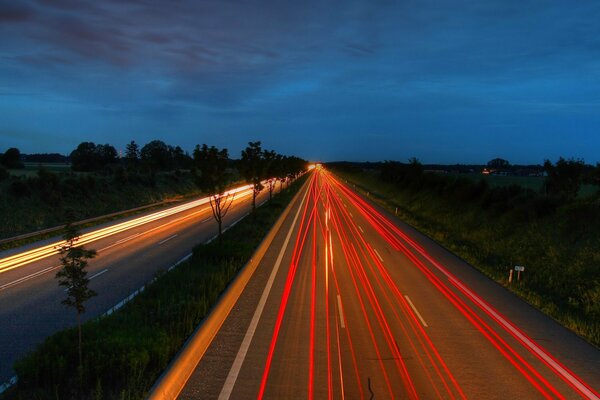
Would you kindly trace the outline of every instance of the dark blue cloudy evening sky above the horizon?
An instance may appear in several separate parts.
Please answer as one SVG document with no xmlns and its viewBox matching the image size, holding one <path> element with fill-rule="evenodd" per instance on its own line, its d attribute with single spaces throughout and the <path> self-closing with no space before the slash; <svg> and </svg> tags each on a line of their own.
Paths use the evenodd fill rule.
<svg viewBox="0 0 600 400">
<path fill-rule="evenodd" d="M 600 2 L 0 0 L 0 151 L 600 161 Z"/>
</svg>

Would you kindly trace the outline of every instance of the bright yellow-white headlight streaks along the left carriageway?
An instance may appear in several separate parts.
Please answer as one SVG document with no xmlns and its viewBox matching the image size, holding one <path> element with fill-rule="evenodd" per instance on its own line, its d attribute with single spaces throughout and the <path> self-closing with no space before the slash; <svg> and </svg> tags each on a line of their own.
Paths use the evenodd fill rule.
<svg viewBox="0 0 600 400">
<path fill-rule="evenodd" d="M 236 195 L 239 200 L 242 197 L 250 195 L 252 193 L 252 186 L 245 185 L 235 189 L 232 189 L 228 192 L 225 192 L 225 195 Z M 114 235 L 116 233 L 124 232 L 126 230 L 135 228 L 140 225 L 147 224 L 152 221 L 156 221 L 161 218 L 168 217 L 173 214 L 177 214 L 186 210 L 189 210 L 194 207 L 199 207 L 201 205 L 207 204 L 210 201 L 209 197 L 204 197 L 199 200 L 194 200 L 189 203 L 181 204 L 179 206 L 175 206 L 169 208 L 167 210 L 158 211 L 149 215 L 145 215 L 143 217 L 132 219 L 131 221 L 121 222 L 119 224 L 109 226 L 106 228 L 98 229 L 97 231 L 85 233 L 79 237 L 77 241 L 78 246 L 82 246 L 87 243 L 94 242 L 99 239 L 106 238 L 108 236 Z M 15 268 L 22 267 L 26 264 L 44 259 L 46 257 L 50 257 L 52 255 L 58 254 L 58 248 L 65 244 L 64 240 L 51 243 L 45 246 L 41 246 L 32 250 L 24 251 L 19 254 L 15 254 L 3 259 L 0 259 L 0 274 L 10 271 Z"/>
</svg>

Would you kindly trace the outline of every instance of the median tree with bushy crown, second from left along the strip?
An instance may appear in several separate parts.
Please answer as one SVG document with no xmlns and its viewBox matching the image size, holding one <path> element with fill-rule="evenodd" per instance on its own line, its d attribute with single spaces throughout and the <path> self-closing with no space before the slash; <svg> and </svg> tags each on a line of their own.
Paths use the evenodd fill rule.
<svg viewBox="0 0 600 400">
<path fill-rule="evenodd" d="M 209 194 L 210 208 L 218 225 L 218 237 L 221 242 L 223 234 L 223 219 L 227 215 L 235 194 L 228 193 L 229 152 L 227 149 L 219 150 L 215 146 L 208 147 L 196 145 L 194 149 L 194 164 L 200 176 L 196 177 L 196 185 Z"/>
</svg>

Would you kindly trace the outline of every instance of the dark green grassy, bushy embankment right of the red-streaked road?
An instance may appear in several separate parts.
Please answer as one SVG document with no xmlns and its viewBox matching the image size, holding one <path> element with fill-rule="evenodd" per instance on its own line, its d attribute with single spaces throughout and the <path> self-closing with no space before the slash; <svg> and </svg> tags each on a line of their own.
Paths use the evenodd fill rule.
<svg viewBox="0 0 600 400">
<path fill-rule="evenodd" d="M 459 174 L 425 173 L 416 160 L 334 171 L 407 223 L 600 345 L 600 197 L 573 185 L 540 193 Z M 598 168 L 598 167 L 596 167 Z M 567 180 L 567 182 L 569 182 Z M 565 188 L 561 191 L 561 188 Z M 509 268 L 525 265 L 520 282 Z"/>
</svg>

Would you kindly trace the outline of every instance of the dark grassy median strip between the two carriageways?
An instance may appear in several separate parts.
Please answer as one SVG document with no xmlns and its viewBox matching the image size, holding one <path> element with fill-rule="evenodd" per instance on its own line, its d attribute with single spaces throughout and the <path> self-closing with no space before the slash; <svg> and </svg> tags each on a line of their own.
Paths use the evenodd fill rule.
<svg viewBox="0 0 600 400">
<path fill-rule="evenodd" d="M 256 209 L 217 240 L 194 248 L 176 269 L 110 316 L 58 332 L 15 364 L 18 383 L 3 399 L 142 399 L 252 256 L 306 177 Z M 1 396 L 0 396 L 1 397 Z"/>
</svg>

